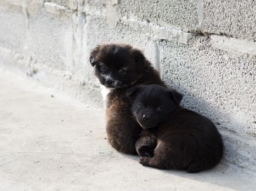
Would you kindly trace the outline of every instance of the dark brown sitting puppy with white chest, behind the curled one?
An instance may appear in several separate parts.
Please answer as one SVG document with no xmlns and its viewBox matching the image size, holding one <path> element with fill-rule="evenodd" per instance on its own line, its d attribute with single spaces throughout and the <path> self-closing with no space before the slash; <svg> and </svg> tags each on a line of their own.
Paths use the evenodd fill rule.
<svg viewBox="0 0 256 191">
<path fill-rule="evenodd" d="M 130 111 L 127 88 L 158 84 L 165 86 L 143 53 L 130 45 L 99 45 L 90 53 L 90 64 L 101 85 L 107 89 L 106 132 L 111 146 L 117 151 L 137 154 L 135 142 L 141 128 Z"/>
</svg>

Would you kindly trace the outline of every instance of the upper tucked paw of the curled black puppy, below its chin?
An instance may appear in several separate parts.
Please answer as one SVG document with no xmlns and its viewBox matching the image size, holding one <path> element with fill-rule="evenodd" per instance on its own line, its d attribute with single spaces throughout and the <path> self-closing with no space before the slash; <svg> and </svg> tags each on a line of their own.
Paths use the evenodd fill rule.
<svg viewBox="0 0 256 191">
<path fill-rule="evenodd" d="M 153 157 L 157 137 L 147 130 L 141 132 L 141 137 L 136 141 L 135 147 L 139 157 Z"/>
</svg>

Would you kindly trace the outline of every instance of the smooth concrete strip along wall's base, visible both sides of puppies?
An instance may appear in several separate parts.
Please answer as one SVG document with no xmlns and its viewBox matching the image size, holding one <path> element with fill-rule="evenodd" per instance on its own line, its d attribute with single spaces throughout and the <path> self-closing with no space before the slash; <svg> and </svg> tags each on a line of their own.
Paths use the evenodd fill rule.
<svg viewBox="0 0 256 191">
<path fill-rule="evenodd" d="M 33 67 L 28 67 L 28 58 L 8 49 L 0 48 L 0 55 L 1 69 L 29 77 L 59 95 L 79 100 L 86 107 L 103 108 L 99 86 L 84 83 L 67 71 L 49 69 L 38 63 Z M 219 130 L 224 141 L 223 163 L 227 166 L 234 164 L 239 168 L 256 171 L 256 136 L 237 134 L 220 127 Z"/>
</svg>

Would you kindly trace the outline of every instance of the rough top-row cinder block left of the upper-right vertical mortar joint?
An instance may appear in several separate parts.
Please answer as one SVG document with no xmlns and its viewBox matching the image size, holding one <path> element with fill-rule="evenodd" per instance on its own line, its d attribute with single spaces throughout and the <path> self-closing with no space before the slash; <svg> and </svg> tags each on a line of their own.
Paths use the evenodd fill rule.
<svg viewBox="0 0 256 191">
<path fill-rule="evenodd" d="M 159 26 L 172 26 L 185 32 L 197 31 L 196 0 L 120 0 L 115 6 L 118 7 L 121 17 L 127 16 Z"/>
</svg>

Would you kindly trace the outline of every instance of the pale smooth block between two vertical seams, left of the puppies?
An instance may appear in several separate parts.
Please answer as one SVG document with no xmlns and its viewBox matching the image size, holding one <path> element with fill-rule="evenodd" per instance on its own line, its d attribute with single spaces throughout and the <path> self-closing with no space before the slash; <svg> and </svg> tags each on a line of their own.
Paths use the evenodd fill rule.
<svg viewBox="0 0 256 191">
<path fill-rule="evenodd" d="M 55 15 L 41 9 L 29 25 L 28 46 L 32 58 L 49 68 L 72 71 L 72 15 Z"/>
</svg>

